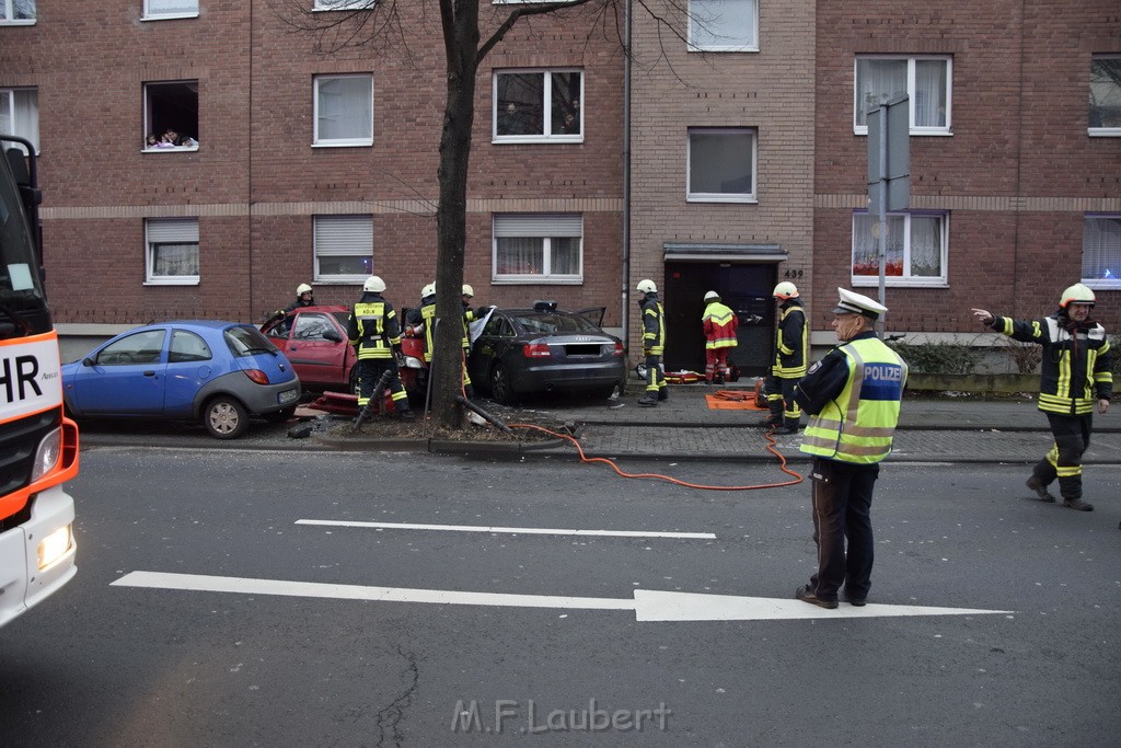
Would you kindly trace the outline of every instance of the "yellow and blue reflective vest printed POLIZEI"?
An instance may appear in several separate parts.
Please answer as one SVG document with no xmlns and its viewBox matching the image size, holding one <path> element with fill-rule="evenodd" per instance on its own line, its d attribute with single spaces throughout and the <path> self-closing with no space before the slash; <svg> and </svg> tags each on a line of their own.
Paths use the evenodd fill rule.
<svg viewBox="0 0 1121 748">
<path fill-rule="evenodd" d="M 899 400 L 907 382 L 907 364 L 883 342 L 858 338 L 830 352 L 844 357 L 844 386 L 809 418 L 802 451 L 830 460 L 871 464 L 891 452 L 899 422 Z M 799 384 L 813 391 L 815 370 Z"/>
</svg>

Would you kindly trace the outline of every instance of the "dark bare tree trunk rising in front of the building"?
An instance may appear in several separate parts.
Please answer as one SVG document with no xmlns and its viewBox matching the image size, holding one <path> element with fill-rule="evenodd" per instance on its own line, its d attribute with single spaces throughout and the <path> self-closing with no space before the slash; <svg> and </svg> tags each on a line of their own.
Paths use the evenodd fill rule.
<svg viewBox="0 0 1121 748">
<path fill-rule="evenodd" d="M 447 65 L 447 99 L 439 138 L 439 205 L 436 209 L 436 327 L 433 415 L 438 427 L 456 428 L 462 373 L 464 244 L 467 227 L 467 164 L 475 116 L 479 67 L 479 0 L 441 0 Z"/>
</svg>

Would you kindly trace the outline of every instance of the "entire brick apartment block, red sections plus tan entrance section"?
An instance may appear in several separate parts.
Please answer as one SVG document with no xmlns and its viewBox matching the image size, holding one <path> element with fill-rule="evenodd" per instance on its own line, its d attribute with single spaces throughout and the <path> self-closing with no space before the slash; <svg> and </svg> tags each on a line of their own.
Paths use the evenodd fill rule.
<svg viewBox="0 0 1121 748">
<path fill-rule="evenodd" d="M 400 4 L 408 55 L 321 54 L 336 37 L 293 21 L 337 4 L 0 1 L 0 127 L 39 144 L 64 333 L 258 320 L 309 279 L 319 302 L 350 303 L 371 271 L 415 303 L 435 261 L 438 18 Z M 483 0 L 483 17 L 503 4 Z M 465 267 L 480 302 L 606 305 L 634 340 L 632 289 L 650 277 L 667 366 L 695 369 L 715 288 L 763 317 L 736 353 L 754 372 L 770 288 L 791 279 L 827 344 L 834 288 L 877 294 L 863 109 L 907 92 L 889 331 L 972 340 L 970 306 L 1036 316 L 1078 279 L 1119 329 L 1114 0 L 689 0 L 707 24 L 647 4 L 676 33 L 636 3 L 629 74 L 617 29 L 582 12 L 519 25 L 485 59 Z M 197 147 L 145 148 L 167 127 Z"/>
</svg>

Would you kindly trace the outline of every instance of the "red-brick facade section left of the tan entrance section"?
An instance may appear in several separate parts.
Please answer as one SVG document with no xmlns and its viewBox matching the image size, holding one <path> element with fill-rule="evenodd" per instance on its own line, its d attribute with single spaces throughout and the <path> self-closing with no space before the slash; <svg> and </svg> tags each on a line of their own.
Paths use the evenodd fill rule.
<svg viewBox="0 0 1121 748">
<path fill-rule="evenodd" d="M 0 92 L 36 130 L 64 333 L 259 321 L 304 281 L 350 304 L 371 273 L 416 305 L 435 277 L 439 16 L 398 3 L 407 45 L 321 54 L 342 35 L 296 26 L 339 4 L 8 3 Z M 619 324 L 623 65 L 600 22 L 535 18 L 485 59 L 464 269 L 480 303 L 605 305 Z M 147 147 L 167 128 L 197 145 Z"/>
</svg>

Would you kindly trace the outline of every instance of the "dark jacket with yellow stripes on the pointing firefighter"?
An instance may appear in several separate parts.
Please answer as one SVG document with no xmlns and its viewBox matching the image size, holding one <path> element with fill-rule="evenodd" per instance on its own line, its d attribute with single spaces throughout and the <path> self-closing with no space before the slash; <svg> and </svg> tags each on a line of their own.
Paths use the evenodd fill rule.
<svg viewBox="0 0 1121 748">
<path fill-rule="evenodd" d="M 1045 413 L 1082 416 L 1094 412 L 1100 399 L 1113 395 L 1110 363 L 1114 351 L 1105 327 L 1096 322 L 1072 333 L 1057 315 L 1041 320 L 993 316 L 990 326 L 1012 340 L 1043 345 L 1038 407 Z"/>
</svg>

